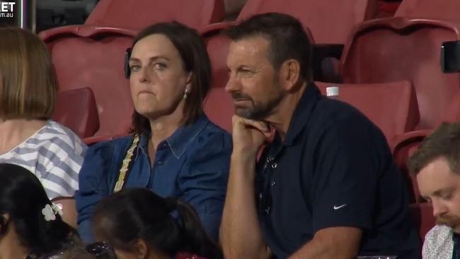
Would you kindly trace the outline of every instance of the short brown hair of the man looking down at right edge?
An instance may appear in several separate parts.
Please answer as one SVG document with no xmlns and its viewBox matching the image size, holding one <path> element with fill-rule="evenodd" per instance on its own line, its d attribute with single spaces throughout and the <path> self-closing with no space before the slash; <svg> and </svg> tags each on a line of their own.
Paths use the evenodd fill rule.
<svg viewBox="0 0 460 259">
<path fill-rule="evenodd" d="M 428 136 L 410 157 L 410 173 L 417 175 L 429 163 L 438 158 L 446 159 L 449 168 L 460 174 L 460 123 L 444 122 Z"/>
</svg>

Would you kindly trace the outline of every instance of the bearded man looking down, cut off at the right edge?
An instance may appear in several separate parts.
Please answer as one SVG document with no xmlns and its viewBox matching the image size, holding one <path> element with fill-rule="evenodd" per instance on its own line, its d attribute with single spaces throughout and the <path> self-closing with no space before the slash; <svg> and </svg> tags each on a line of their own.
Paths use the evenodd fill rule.
<svg viewBox="0 0 460 259">
<path fill-rule="evenodd" d="M 444 123 L 409 159 L 436 224 L 425 236 L 424 259 L 460 258 L 460 123 Z"/>
</svg>

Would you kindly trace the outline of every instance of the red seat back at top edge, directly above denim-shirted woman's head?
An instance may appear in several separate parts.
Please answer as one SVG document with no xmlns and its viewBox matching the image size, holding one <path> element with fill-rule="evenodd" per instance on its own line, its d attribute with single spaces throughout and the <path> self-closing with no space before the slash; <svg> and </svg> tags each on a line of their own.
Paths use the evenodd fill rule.
<svg viewBox="0 0 460 259">
<path fill-rule="evenodd" d="M 224 16 L 223 0 L 100 0 L 85 24 L 139 30 L 175 20 L 199 29 Z"/>
</svg>

